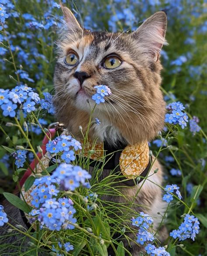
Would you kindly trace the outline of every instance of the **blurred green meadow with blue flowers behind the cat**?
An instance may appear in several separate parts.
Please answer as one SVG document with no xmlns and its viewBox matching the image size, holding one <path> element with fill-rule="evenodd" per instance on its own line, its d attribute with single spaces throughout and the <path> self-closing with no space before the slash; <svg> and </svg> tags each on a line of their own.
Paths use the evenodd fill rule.
<svg viewBox="0 0 207 256">
<path fill-rule="evenodd" d="M 168 143 L 173 147 L 175 158 L 164 151 L 160 160 L 166 169 L 166 182 L 176 183 L 183 189 L 186 203 L 192 200 L 193 188 L 201 189 L 194 210 L 201 215 L 207 227 L 206 215 L 206 137 L 207 132 L 207 2 L 203 0 L 83 0 L 66 1 L 79 22 L 93 31 L 109 32 L 135 30 L 156 11 L 165 10 L 168 16 L 166 39 L 169 43 L 161 52 L 163 64 L 162 91 L 167 103 L 180 101 L 185 105 L 189 119 L 194 121 L 182 130 L 178 128 Z M 54 0 L 0 0 L 8 14 L 0 31 L 0 88 L 11 89 L 17 85 L 18 73 L 21 83 L 35 88 L 41 95 L 53 90 L 55 66 L 55 40 L 62 27 L 62 12 Z M 1 24 L 0 24 L 1 28 Z M 196 118 L 193 119 L 193 116 Z M 5 147 L 25 143 L 15 127 L 6 127 L 9 118 L 0 116 L 0 193 L 14 189 L 14 158 Z M 32 121 L 32 120 L 31 120 Z M 55 121 L 54 115 L 39 116 L 42 126 Z M 194 122 L 194 123 L 193 123 Z M 40 145 L 41 129 L 30 125 L 31 141 Z M 163 133 L 163 137 L 165 132 Z M 158 145 L 151 144 L 156 153 Z M 28 162 L 33 158 L 28 154 Z M 182 168 L 183 176 L 171 173 L 172 168 Z M 176 224 L 176 216 L 182 210 L 172 211 L 169 228 Z M 205 253 L 205 233 L 200 232 L 186 255 Z M 182 251 L 183 253 L 183 251 Z M 192 254 L 193 253 L 193 254 Z M 180 254 L 181 255 L 181 254 Z M 184 255 L 184 254 L 182 254 Z M 201 255 L 201 254 L 200 254 Z"/>
</svg>

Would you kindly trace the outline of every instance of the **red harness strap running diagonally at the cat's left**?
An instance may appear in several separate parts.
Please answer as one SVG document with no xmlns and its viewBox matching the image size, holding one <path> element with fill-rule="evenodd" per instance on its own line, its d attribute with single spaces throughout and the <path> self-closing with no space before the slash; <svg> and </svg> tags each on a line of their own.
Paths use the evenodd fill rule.
<svg viewBox="0 0 207 256">
<path fill-rule="evenodd" d="M 49 132 L 47 133 L 47 136 L 45 135 L 44 139 L 42 140 L 42 145 L 41 145 L 41 149 L 42 149 L 42 153 L 38 153 L 38 158 L 41 159 L 42 155 L 45 155 L 46 153 L 46 144 L 48 144 L 49 140 L 48 137 L 53 139 L 55 137 L 55 133 L 56 133 L 56 129 L 49 129 Z M 31 175 L 31 169 L 35 170 L 35 166 L 38 165 L 38 160 L 34 159 L 31 164 L 30 164 L 30 168 L 27 169 L 27 171 L 24 173 L 23 177 L 20 180 L 20 186 L 22 187 L 24 185 L 24 182 L 26 181 L 26 179 Z"/>
</svg>

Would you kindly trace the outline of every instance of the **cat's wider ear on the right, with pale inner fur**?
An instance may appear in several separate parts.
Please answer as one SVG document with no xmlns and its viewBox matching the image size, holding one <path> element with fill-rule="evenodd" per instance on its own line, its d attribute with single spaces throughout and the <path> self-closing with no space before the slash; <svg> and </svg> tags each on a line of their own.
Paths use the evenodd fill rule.
<svg viewBox="0 0 207 256">
<path fill-rule="evenodd" d="M 167 28 L 167 16 L 164 11 L 159 11 L 146 19 L 142 25 L 131 33 L 137 42 L 137 47 L 148 54 L 153 61 L 159 59 L 160 50 L 164 44 Z"/>
</svg>

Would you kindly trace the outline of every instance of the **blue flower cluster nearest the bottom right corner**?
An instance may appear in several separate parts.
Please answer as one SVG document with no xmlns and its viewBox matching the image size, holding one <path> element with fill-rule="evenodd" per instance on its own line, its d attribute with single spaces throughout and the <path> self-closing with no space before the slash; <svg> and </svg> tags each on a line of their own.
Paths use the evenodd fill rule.
<svg viewBox="0 0 207 256">
<path fill-rule="evenodd" d="M 194 241 L 196 234 L 199 233 L 199 224 L 197 217 L 186 214 L 184 221 L 180 224 L 179 228 L 170 232 L 170 236 L 175 239 L 179 238 L 179 241 L 183 241 L 187 238 L 191 238 Z"/>
</svg>

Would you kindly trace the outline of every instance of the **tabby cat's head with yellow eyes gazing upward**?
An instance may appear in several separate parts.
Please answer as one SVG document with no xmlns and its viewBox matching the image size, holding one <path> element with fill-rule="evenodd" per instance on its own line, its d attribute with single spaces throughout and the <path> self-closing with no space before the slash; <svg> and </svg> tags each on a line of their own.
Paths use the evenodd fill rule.
<svg viewBox="0 0 207 256">
<path fill-rule="evenodd" d="M 94 86 L 107 85 L 111 95 L 96 106 L 91 133 L 115 143 L 151 140 L 162 129 L 165 102 L 160 91 L 160 50 L 167 18 L 159 11 L 131 33 L 91 32 L 72 12 L 62 7 L 62 29 L 55 67 L 55 107 L 59 121 L 76 134 L 86 130 L 95 94 Z"/>
</svg>

